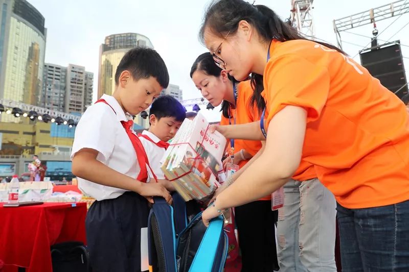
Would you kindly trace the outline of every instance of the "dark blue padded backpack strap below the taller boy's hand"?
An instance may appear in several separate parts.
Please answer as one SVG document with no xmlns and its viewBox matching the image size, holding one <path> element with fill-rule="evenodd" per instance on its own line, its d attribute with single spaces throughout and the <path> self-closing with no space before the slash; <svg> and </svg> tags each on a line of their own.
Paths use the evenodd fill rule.
<svg viewBox="0 0 409 272">
<path fill-rule="evenodd" d="M 149 265 L 155 265 L 157 260 L 157 246 L 164 253 L 165 271 L 177 272 L 176 270 L 176 238 L 173 224 L 173 208 L 168 205 L 163 197 L 153 197 L 154 204 L 149 212 L 148 219 L 148 250 Z M 154 222 L 155 220 L 155 222 Z M 158 234 L 153 233 L 153 224 L 157 224 Z M 155 227 L 156 228 L 156 227 Z M 159 244 L 160 243 L 160 244 Z"/>
</svg>

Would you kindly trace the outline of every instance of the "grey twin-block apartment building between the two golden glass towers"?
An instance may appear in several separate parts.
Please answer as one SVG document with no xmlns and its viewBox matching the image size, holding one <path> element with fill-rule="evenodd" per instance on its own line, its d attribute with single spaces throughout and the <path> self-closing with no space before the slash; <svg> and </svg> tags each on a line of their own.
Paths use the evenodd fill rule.
<svg viewBox="0 0 409 272">
<path fill-rule="evenodd" d="M 93 101 L 94 73 L 85 67 L 69 64 L 44 65 L 41 107 L 67 113 L 82 113 Z"/>
</svg>

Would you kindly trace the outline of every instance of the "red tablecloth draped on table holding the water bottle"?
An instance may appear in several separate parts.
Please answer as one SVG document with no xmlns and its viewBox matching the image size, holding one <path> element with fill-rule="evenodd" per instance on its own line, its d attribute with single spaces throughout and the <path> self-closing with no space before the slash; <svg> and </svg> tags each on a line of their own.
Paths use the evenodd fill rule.
<svg viewBox="0 0 409 272">
<path fill-rule="evenodd" d="M 73 207 L 75 206 L 75 207 Z M 44 203 L 5 208 L 0 204 L 0 259 L 5 271 L 52 272 L 50 246 L 85 241 L 86 203 Z"/>
</svg>

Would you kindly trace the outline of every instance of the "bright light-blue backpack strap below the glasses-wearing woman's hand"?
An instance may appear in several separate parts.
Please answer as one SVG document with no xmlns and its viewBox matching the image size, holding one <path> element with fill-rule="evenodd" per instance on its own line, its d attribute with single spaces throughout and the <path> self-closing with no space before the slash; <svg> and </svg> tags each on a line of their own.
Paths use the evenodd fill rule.
<svg viewBox="0 0 409 272">
<path fill-rule="evenodd" d="M 223 219 L 217 217 L 211 220 L 205 235 L 203 235 L 189 272 L 212 271 L 221 237 L 224 240 L 223 233 Z"/>
</svg>

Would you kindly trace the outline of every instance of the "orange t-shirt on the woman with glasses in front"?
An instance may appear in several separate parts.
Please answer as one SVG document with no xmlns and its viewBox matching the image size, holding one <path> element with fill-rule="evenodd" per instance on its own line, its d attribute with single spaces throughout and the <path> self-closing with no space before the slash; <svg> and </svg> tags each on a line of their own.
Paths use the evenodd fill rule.
<svg viewBox="0 0 409 272">
<path fill-rule="evenodd" d="M 266 128 L 286 105 L 307 111 L 302 159 L 346 208 L 409 199 L 409 117 L 399 98 L 352 59 L 307 40 L 270 46 Z"/>
</svg>

